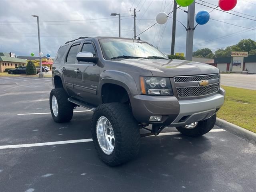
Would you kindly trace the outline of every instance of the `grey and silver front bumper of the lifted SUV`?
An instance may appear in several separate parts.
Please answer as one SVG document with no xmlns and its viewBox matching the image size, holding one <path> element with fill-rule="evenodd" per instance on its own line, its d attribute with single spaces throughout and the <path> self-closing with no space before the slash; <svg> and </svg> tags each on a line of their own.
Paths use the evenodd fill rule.
<svg viewBox="0 0 256 192">
<path fill-rule="evenodd" d="M 138 122 L 159 126 L 184 126 L 211 117 L 224 103 L 225 91 L 200 99 L 178 100 L 175 96 L 130 94 L 132 112 Z M 161 122 L 149 122 L 152 115 L 161 115 Z"/>
</svg>

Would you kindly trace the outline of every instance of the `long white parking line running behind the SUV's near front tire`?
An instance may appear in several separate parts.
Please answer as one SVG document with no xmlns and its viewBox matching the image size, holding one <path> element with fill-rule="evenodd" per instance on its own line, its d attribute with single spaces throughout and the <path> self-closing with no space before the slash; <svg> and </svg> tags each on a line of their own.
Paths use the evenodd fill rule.
<svg viewBox="0 0 256 192">
<path fill-rule="evenodd" d="M 225 131 L 225 130 L 224 129 L 213 129 L 210 132 L 222 132 L 222 131 Z M 158 136 L 180 135 L 180 134 L 181 134 L 180 132 L 170 132 L 170 133 L 160 133 Z M 44 143 L 19 144 L 19 145 L 2 145 L 2 146 L 0 146 L 0 149 L 38 147 L 38 146 L 60 145 L 60 144 L 69 144 L 69 143 L 83 143 L 83 142 L 92 142 L 92 138 L 90 138 L 90 139 L 44 142 Z"/>
</svg>

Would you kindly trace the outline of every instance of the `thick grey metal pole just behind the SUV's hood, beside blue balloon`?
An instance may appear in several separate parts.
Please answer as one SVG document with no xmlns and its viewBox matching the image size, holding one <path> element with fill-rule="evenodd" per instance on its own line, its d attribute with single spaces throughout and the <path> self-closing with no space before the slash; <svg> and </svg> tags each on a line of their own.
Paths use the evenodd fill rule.
<svg viewBox="0 0 256 192">
<path fill-rule="evenodd" d="M 195 1 L 188 6 L 188 24 L 186 40 L 186 60 L 192 61 L 193 38 L 194 38 L 194 20 L 195 20 Z"/>
</svg>

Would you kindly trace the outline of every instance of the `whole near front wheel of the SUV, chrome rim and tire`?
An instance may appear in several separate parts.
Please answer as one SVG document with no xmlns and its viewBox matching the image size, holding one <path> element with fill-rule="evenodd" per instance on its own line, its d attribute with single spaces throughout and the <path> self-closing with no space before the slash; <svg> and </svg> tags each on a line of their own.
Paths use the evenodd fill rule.
<svg viewBox="0 0 256 192">
<path fill-rule="evenodd" d="M 92 117 L 92 139 L 100 159 L 109 166 L 134 158 L 140 149 L 140 130 L 129 106 L 98 106 Z"/>
</svg>

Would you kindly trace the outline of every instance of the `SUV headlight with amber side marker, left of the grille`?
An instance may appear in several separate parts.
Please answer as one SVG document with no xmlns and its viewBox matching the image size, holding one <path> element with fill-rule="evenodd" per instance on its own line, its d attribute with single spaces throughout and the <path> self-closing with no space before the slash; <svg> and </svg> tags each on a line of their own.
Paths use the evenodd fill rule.
<svg viewBox="0 0 256 192">
<path fill-rule="evenodd" d="M 173 95 L 169 78 L 140 77 L 140 90 L 146 95 Z"/>
</svg>

